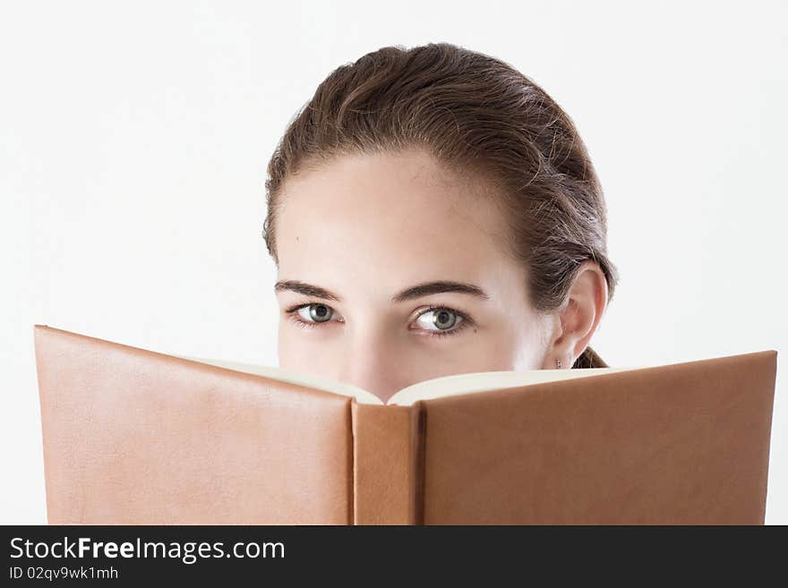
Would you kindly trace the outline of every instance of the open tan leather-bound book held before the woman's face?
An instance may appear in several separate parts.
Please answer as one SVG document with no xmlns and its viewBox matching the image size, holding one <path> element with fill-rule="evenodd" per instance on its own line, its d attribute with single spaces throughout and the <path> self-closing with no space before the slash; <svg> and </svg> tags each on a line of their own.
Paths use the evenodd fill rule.
<svg viewBox="0 0 788 588">
<path fill-rule="evenodd" d="M 763 524 L 776 351 L 333 379 L 34 326 L 50 524 Z"/>
</svg>

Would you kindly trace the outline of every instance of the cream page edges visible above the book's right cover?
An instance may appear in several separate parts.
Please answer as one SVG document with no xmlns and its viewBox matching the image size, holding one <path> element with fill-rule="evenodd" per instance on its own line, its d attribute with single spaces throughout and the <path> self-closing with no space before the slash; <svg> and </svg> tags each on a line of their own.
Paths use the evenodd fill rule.
<svg viewBox="0 0 788 588">
<path fill-rule="evenodd" d="M 409 406 L 416 400 L 430 400 L 443 396 L 458 396 L 503 388 L 519 388 L 530 384 L 560 379 L 588 378 L 613 371 L 642 368 L 582 368 L 575 370 L 475 371 L 441 378 L 426 379 L 402 388 L 389 398 L 387 405 Z"/>
</svg>

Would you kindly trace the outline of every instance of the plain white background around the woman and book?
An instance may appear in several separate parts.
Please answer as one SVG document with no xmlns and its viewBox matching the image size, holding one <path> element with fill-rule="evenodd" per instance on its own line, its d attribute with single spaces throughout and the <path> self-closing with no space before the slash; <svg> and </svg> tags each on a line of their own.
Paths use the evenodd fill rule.
<svg viewBox="0 0 788 588">
<path fill-rule="evenodd" d="M 655 4 L 2 4 L 0 523 L 46 522 L 32 325 L 276 364 L 276 141 L 338 65 L 449 41 L 587 143 L 621 269 L 605 361 L 779 352 L 767 524 L 788 524 L 788 4 Z"/>
</svg>

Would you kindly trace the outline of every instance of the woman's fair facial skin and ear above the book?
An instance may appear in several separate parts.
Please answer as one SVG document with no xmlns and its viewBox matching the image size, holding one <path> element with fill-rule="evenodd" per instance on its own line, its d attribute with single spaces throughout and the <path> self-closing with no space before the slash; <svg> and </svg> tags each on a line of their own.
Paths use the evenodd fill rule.
<svg viewBox="0 0 788 588">
<path fill-rule="evenodd" d="M 592 261 L 560 311 L 535 312 L 527 268 L 504 250 L 503 217 L 488 187 L 460 180 L 424 151 L 344 155 L 288 177 L 283 188 L 281 367 L 354 384 L 385 402 L 440 376 L 555 369 L 556 359 L 569 368 L 604 314 L 607 284 Z M 485 295 L 438 288 L 394 301 L 436 281 Z"/>
</svg>

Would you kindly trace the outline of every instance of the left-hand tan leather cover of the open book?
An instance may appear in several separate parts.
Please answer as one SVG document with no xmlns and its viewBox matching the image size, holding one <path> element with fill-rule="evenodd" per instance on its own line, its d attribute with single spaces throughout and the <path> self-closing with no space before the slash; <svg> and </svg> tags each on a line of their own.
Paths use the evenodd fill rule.
<svg viewBox="0 0 788 588">
<path fill-rule="evenodd" d="M 352 524 L 347 396 L 35 327 L 50 524 Z"/>
</svg>

